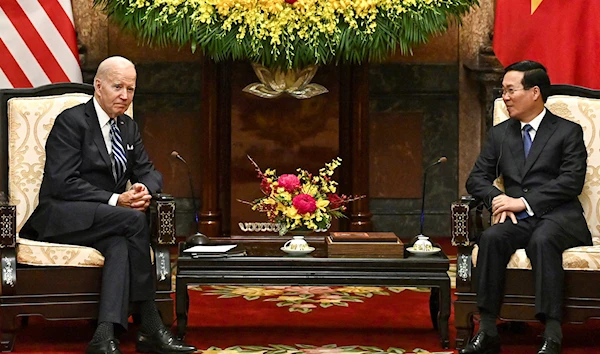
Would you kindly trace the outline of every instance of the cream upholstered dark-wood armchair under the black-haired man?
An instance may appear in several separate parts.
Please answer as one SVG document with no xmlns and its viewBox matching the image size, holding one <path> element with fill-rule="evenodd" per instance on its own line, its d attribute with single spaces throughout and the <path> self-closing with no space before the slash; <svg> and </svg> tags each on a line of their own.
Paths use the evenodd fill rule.
<svg viewBox="0 0 600 354">
<path fill-rule="evenodd" d="M 553 85 L 546 107 L 579 123 L 588 152 L 585 184 L 579 200 L 583 205 L 593 246 L 575 247 L 563 253 L 565 269 L 564 322 L 583 323 L 600 317 L 600 91 L 576 86 Z M 502 99 L 494 102 L 493 122 L 508 119 Z M 496 181 L 500 186 L 502 181 Z M 483 213 L 482 213 L 483 212 Z M 456 347 L 462 348 L 473 334 L 477 313 L 476 237 L 486 219 L 483 206 L 469 196 L 452 204 L 452 243 L 458 247 L 454 325 Z M 489 218 L 487 219 L 489 220 Z M 535 298 L 531 263 L 524 249 L 510 259 L 500 317 L 508 321 L 535 321 Z"/>
</svg>

